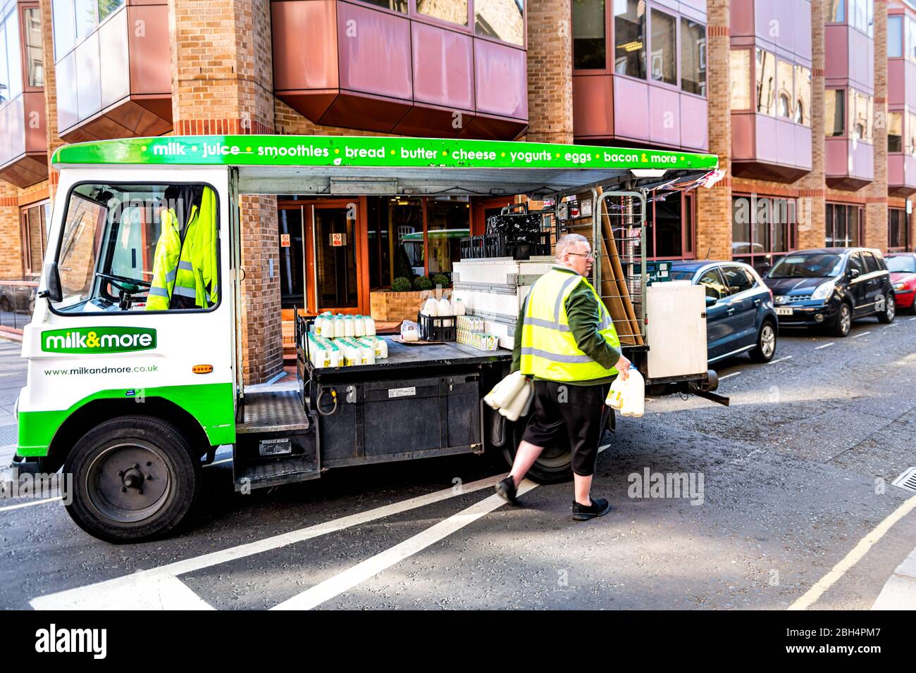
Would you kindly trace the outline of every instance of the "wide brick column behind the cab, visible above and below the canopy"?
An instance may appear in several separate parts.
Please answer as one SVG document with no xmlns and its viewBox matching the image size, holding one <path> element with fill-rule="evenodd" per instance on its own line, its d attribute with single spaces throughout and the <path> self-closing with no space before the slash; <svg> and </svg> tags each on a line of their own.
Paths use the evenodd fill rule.
<svg viewBox="0 0 916 673">
<path fill-rule="evenodd" d="M 274 133 L 267 0 L 169 0 L 176 135 Z M 283 371 L 277 199 L 240 199 L 245 383 Z M 270 260 L 273 259 L 273 277 Z"/>
</svg>

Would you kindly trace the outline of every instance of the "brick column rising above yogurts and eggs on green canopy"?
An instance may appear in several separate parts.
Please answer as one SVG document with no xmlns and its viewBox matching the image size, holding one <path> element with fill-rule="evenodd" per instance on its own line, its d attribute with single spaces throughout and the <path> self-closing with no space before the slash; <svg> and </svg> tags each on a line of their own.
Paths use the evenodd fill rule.
<svg viewBox="0 0 916 673">
<path fill-rule="evenodd" d="M 529 0 L 526 139 L 531 142 L 573 142 L 572 17 L 571 0 Z"/>
</svg>

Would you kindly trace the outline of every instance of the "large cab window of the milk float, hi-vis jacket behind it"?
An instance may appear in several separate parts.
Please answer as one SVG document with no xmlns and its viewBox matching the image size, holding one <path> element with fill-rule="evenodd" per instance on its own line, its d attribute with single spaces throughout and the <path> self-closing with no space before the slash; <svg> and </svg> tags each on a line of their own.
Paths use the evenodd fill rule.
<svg viewBox="0 0 916 673">
<path fill-rule="evenodd" d="M 65 313 L 207 309 L 217 300 L 217 217 L 202 185 L 82 184 L 57 256 Z"/>
</svg>

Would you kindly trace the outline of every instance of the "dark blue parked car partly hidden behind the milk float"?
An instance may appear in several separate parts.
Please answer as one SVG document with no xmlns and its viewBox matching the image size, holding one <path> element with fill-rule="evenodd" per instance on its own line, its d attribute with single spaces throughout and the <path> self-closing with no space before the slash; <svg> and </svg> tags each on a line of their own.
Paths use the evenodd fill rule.
<svg viewBox="0 0 916 673">
<path fill-rule="evenodd" d="M 710 363 L 740 353 L 749 353 L 757 363 L 773 359 L 780 323 L 773 293 L 752 266 L 708 260 L 672 262 L 671 280 L 689 280 L 706 289 Z"/>
</svg>

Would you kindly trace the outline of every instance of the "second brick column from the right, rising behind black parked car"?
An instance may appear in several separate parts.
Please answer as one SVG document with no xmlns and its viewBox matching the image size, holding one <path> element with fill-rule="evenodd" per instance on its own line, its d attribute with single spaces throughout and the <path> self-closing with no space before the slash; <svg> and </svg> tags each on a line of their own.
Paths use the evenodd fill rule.
<svg viewBox="0 0 916 673">
<path fill-rule="evenodd" d="M 797 248 L 823 247 L 827 206 L 823 133 L 824 29 L 823 2 L 811 4 L 811 172 L 799 180 L 799 225 Z"/>
</svg>

